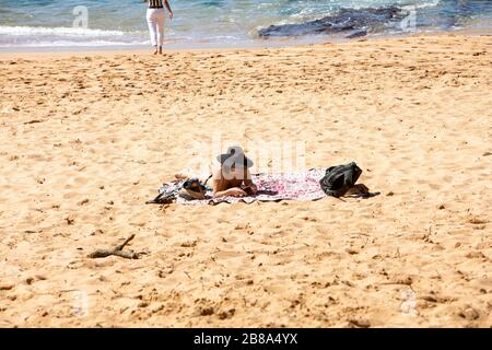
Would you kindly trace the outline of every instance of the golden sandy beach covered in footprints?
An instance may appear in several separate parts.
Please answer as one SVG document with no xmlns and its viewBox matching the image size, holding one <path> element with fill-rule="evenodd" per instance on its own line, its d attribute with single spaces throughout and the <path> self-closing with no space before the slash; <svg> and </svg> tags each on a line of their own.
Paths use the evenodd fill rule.
<svg viewBox="0 0 492 350">
<path fill-rule="evenodd" d="M 0 327 L 492 327 L 492 36 L 0 68 Z M 380 195 L 145 206 L 218 131 Z"/>
</svg>

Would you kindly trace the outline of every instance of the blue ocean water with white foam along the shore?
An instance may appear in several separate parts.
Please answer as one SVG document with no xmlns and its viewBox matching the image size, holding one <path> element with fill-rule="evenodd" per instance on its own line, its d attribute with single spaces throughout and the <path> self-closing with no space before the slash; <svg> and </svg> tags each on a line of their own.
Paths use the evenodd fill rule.
<svg viewBox="0 0 492 350">
<path fill-rule="evenodd" d="M 355 36 L 457 28 L 492 33 L 492 0 L 169 0 L 169 3 L 174 19 L 166 21 L 167 46 L 244 46 L 268 43 L 273 36 L 289 44 L 347 37 L 361 30 L 362 34 L 356 32 Z M 388 7 L 396 8 L 398 15 L 375 16 L 371 12 Z M 145 10 L 140 0 L 0 0 L 0 48 L 149 45 Z M 324 22 L 328 30 L 318 27 L 311 33 L 309 22 L 324 18 L 328 19 Z M 292 24 L 297 26 L 289 26 Z M 272 25 L 274 35 L 260 35 Z"/>
</svg>

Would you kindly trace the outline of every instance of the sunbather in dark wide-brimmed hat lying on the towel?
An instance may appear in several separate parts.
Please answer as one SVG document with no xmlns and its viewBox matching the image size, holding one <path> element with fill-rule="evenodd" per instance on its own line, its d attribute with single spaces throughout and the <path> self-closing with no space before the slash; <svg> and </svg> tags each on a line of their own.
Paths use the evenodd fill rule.
<svg viewBox="0 0 492 350">
<path fill-rule="evenodd" d="M 212 188 L 214 197 L 243 197 L 255 195 L 257 187 L 251 182 L 248 167 L 253 166 L 241 147 L 230 147 L 227 153 L 218 158 L 221 166 L 212 173 Z"/>
</svg>

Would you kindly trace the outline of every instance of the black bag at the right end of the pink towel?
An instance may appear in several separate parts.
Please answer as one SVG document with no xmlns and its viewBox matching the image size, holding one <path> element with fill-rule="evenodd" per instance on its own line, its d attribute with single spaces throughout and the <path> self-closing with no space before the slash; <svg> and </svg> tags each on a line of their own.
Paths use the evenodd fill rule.
<svg viewBox="0 0 492 350">
<path fill-rule="evenodd" d="M 355 185 L 361 174 L 362 170 L 354 162 L 330 166 L 326 170 L 325 176 L 319 180 L 319 184 L 328 196 L 341 197 Z"/>
</svg>

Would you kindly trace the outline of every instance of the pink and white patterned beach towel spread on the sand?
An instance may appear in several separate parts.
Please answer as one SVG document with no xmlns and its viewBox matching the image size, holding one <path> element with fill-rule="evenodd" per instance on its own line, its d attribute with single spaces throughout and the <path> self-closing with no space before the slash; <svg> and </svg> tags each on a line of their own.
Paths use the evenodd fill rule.
<svg viewBox="0 0 492 350">
<path fill-rule="evenodd" d="M 218 205 L 222 202 L 235 203 L 254 201 L 280 201 L 301 200 L 309 201 L 326 197 L 319 180 L 325 175 L 324 168 L 312 168 L 301 173 L 289 174 L 253 174 L 253 183 L 258 187 L 258 194 L 247 197 L 219 197 L 213 198 L 212 191 L 208 190 L 204 199 L 187 199 L 176 196 L 174 202 L 178 205 Z M 159 192 L 173 192 L 179 189 L 181 182 L 164 184 Z"/>
</svg>

